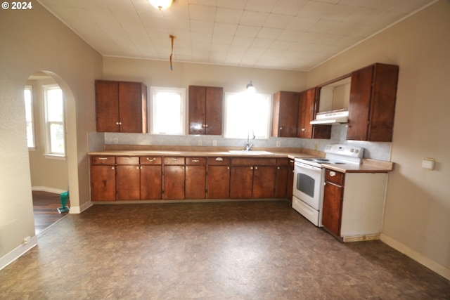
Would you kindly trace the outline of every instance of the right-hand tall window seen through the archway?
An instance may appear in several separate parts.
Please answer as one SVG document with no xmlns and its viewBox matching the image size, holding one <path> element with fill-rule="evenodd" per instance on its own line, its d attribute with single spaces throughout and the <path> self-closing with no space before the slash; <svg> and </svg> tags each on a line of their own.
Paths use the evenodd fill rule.
<svg viewBox="0 0 450 300">
<path fill-rule="evenodd" d="M 46 155 L 65 156 L 63 91 L 57 85 L 43 86 L 43 89 Z"/>
</svg>

